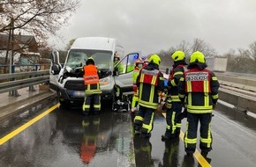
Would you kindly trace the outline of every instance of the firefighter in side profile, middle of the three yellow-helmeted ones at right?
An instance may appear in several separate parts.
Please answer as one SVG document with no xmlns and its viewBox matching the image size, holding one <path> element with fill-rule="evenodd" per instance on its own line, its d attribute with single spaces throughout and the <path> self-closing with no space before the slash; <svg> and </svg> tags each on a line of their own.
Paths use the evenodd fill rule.
<svg viewBox="0 0 256 167">
<path fill-rule="evenodd" d="M 183 51 L 176 51 L 171 54 L 174 64 L 169 75 L 167 84 L 168 95 L 166 100 L 166 131 L 162 135 L 162 140 L 169 140 L 179 136 L 181 120 L 177 120 L 177 114 L 182 112 L 182 104 L 178 98 L 177 84 L 183 76 L 184 66 L 187 65 Z"/>
</svg>

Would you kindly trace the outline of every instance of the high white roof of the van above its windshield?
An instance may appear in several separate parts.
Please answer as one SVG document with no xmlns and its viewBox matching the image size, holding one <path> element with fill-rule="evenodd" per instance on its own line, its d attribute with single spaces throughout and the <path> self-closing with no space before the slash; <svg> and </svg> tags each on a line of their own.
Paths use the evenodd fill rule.
<svg viewBox="0 0 256 167">
<path fill-rule="evenodd" d="M 107 37 L 82 37 L 74 41 L 71 49 L 100 49 L 112 51 L 115 46 L 121 47 L 116 39 Z"/>
</svg>

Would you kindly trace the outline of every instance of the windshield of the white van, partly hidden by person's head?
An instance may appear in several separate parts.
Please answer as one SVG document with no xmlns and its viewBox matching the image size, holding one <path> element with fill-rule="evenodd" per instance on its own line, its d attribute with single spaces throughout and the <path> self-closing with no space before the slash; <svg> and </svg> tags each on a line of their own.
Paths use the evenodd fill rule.
<svg viewBox="0 0 256 167">
<path fill-rule="evenodd" d="M 66 66 L 72 69 L 86 65 L 88 57 L 93 57 L 98 69 L 109 70 L 111 68 L 111 51 L 105 50 L 88 50 L 88 49 L 71 49 L 68 55 Z"/>
</svg>

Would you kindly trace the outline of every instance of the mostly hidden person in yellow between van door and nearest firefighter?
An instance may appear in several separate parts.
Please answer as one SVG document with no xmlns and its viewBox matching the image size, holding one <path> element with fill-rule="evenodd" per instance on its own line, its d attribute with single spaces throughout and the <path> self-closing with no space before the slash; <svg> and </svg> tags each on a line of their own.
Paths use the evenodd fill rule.
<svg viewBox="0 0 256 167">
<path fill-rule="evenodd" d="M 144 62 L 142 62 L 140 59 L 135 61 L 135 65 L 132 73 L 132 80 L 133 80 L 133 85 L 132 85 L 133 97 L 132 97 L 132 109 L 131 109 L 132 113 L 136 111 L 136 106 L 138 105 L 139 92 L 137 89 L 136 81 L 137 81 L 137 77 L 139 76 L 139 69 L 142 68 L 143 63 Z"/>
</svg>

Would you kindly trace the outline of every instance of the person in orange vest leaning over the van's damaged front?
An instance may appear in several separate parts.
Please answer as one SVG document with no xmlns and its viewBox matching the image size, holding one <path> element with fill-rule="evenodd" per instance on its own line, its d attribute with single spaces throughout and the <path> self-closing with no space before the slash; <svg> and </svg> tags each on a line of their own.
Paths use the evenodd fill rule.
<svg viewBox="0 0 256 167">
<path fill-rule="evenodd" d="M 99 84 L 98 70 L 94 64 L 94 59 L 89 57 L 84 66 L 84 82 L 85 82 L 85 101 L 83 105 L 83 113 L 89 114 L 91 103 L 94 106 L 94 113 L 101 111 L 101 88 Z"/>
</svg>

